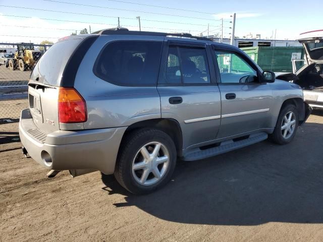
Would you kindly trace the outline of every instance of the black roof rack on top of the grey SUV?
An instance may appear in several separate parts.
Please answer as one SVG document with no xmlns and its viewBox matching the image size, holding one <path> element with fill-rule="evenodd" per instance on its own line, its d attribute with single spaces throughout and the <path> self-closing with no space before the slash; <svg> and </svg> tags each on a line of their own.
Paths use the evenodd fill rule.
<svg viewBox="0 0 323 242">
<path fill-rule="evenodd" d="M 96 32 L 92 32 L 92 34 L 100 34 L 100 35 L 112 35 L 112 34 L 127 34 L 127 35 L 151 35 L 151 36 L 175 36 L 175 37 L 185 37 L 185 38 L 193 38 L 199 40 L 212 41 L 206 37 L 193 36 L 189 33 L 161 33 L 161 32 L 148 32 L 148 31 L 130 31 L 127 28 L 111 28 L 111 29 L 102 29 Z"/>
</svg>

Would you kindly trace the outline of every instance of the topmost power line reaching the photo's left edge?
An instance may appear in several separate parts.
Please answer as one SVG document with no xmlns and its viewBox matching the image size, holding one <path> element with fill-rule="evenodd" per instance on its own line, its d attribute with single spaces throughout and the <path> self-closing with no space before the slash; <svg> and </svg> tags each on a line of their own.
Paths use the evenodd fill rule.
<svg viewBox="0 0 323 242">
<path fill-rule="evenodd" d="M 27 8 L 27 7 L 20 7 L 20 6 L 8 6 L 8 5 L 0 5 L 0 7 L 5 8 L 17 8 L 17 9 L 28 9 L 28 10 L 37 10 L 37 11 L 44 11 L 44 12 L 53 12 L 53 13 L 63 13 L 63 14 L 76 14 L 76 15 L 85 15 L 85 16 L 96 16 L 96 17 L 104 17 L 104 18 L 118 18 L 116 16 L 107 16 L 107 15 L 97 15 L 97 14 L 84 14 L 84 13 L 76 13 L 76 12 L 64 12 L 64 11 L 57 11 L 57 10 L 49 10 L 49 9 L 35 9 L 35 8 Z M 130 19 L 135 20 L 135 18 L 127 18 L 127 17 L 119 17 L 120 19 Z M 193 23 L 183 23 L 183 22 L 171 22 L 171 21 L 160 21 L 160 20 L 152 20 L 152 19 L 140 19 L 143 21 L 148 22 L 160 22 L 160 23 L 171 23 L 171 24 L 186 24 L 186 25 L 196 25 L 196 26 L 206 26 L 206 24 L 193 24 Z M 218 27 L 221 25 L 209 25 L 210 27 Z"/>
</svg>

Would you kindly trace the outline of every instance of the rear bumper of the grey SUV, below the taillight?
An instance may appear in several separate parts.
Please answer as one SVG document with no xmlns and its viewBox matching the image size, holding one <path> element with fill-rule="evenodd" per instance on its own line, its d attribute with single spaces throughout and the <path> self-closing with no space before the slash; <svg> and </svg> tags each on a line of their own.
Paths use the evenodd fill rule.
<svg viewBox="0 0 323 242">
<path fill-rule="evenodd" d="M 95 169 L 104 174 L 114 172 L 119 145 L 127 127 L 61 130 L 45 134 L 40 141 L 28 132 L 31 122 L 29 108 L 22 110 L 19 121 L 21 143 L 39 164 L 53 170 Z"/>
</svg>

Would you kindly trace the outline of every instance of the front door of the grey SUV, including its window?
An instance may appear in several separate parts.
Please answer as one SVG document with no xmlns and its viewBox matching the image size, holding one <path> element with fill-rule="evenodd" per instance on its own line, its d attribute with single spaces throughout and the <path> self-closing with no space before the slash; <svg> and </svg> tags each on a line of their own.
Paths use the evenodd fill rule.
<svg viewBox="0 0 323 242">
<path fill-rule="evenodd" d="M 214 46 L 221 82 L 221 128 L 217 138 L 270 128 L 273 103 L 271 84 L 260 83 L 261 73 L 244 54 L 230 47 Z"/>
</svg>

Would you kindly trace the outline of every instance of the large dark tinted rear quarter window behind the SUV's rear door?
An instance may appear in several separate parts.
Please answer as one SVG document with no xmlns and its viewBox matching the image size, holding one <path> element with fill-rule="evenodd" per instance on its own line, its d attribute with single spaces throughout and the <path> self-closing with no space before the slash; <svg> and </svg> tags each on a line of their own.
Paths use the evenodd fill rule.
<svg viewBox="0 0 323 242">
<path fill-rule="evenodd" d="M 112 42 L 100 54 L 95 74 L 116 85 L 155 85 L 161 46 L 157 41 Z"/>
</svg>

